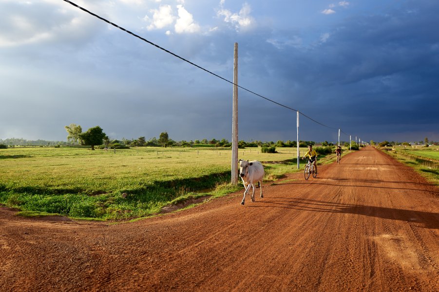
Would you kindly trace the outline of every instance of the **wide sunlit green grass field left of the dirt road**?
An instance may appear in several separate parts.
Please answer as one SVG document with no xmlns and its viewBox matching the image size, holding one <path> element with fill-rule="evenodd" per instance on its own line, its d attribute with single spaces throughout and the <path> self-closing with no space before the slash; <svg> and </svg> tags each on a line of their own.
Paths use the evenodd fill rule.
<svg viewBox="0 0 439 292">
<path fill-rule="evenodd" d="M 274 181 L 297 171 L 296 148 L 277 151 L 239 149 L 238 157 L 262 161 L 265 180 Z M 218 196 L 241 189 L 241 184 L 228 184 L 230 158 L 231 150 L 222 148 L 138 147 L 116 153 L 84 148 L 0 149 L 0 203 L 72 218 L 145 217 L 188 196 Z"/>
</svg>

